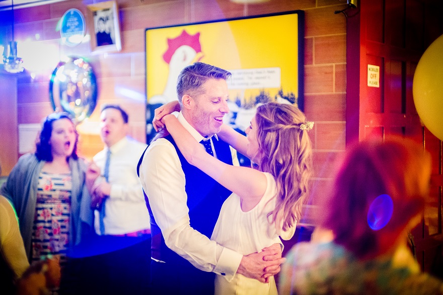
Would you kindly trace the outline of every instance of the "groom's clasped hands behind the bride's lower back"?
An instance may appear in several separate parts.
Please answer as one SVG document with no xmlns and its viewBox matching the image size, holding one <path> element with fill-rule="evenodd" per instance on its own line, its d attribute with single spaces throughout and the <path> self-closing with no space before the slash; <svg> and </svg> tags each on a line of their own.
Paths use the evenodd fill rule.
<svg viewBox="0 0 443 295">
<path fill-rule="evenodd" d="M 281 258 L 280 244 L 274 244 L 260 253 L 243 256 L 237 272 L 265 283 L 268 282 L 269 276 L 280 271 L 280 264 L 285 260 Z"/>
</svg>

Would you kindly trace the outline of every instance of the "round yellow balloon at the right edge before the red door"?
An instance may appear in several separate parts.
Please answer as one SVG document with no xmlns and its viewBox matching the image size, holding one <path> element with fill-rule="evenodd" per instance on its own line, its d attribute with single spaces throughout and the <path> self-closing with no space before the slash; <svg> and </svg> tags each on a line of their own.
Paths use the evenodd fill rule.
<svg viewBox="0 0 443 295">
<path fill-rule="evenodd" d="M 412 94 L 423 124 L 443 140 L 443 35 L 421 56 L 414 73 Z"/>
</svg>

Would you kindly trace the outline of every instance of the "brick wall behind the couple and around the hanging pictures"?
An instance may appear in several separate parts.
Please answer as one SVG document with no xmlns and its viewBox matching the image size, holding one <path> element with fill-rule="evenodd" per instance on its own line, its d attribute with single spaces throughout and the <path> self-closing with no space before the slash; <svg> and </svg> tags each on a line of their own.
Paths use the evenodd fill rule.
<svg viewBox="0 0 443 295">
<path fill-rule="evenodd" d="M 19 53 L 20 46 L 27 44 L 43 48 L 44 58 L 48 60 L 40 66 L 34 79 L 28 77 L 18 82 L 18 124 L 39 123 L 52 112 L 48 77 L 61 56 L 79 55 L 90 59 L 99 85 L 98 106 L 88 122 L 79 126 L 81 153 L 91 158 L 102 149 L 98 133 L 91 130 L 97 130 L 93 127 L 98 125 L 98 110 L 104 103 L 118 103 L 127 109 L 131 135 L 143 141 L 145 102 L 123 97 L 115 92 L 115 87 L 125 87 L 145 96 L 145 28 L 304 10 L 305 112 L 308 119 L 316 123 L 310 132 L 314 144 L 314 190 L 323 190 L 333 161 L 345 149 L 346 19 L 343 14 L 334 14 L 335 10 L 344 8 L 345 1 L 271 0 L 241 5 L 229 0 L 118 0 L 120 52 L 92 54 L 89 43 L 76 47 L 63 45 L 55 28 L 64 12 L 77 8 L 86 16 L 86 5 L 96 2 L 68 0 L 15 11 Z M 0 20 L 5 19 L 5 14 L 0 12 Z M 9 23 L 2 21 L 1 25 L 0 31 L 10 31 Z"/>
</svg>

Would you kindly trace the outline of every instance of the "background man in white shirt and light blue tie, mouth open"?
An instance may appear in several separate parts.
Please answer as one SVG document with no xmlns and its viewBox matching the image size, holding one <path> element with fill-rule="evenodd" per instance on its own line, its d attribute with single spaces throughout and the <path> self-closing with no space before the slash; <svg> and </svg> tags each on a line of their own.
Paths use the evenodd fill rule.
<svg viewBox="0 0 443 295">
<path fill-rule="evenodd" d="M 99 254 L 89 258 L 85 267 L 92 277 L 88 291 L 147 294 L 151 229 L 136 173 L 146 144 L 127 136 L 128 115 L 120 106 L 105 105 L 100 121 L 105 148 L 94 156 L 87 171 L 97 234 L 91 251 Z"/>
</svg>

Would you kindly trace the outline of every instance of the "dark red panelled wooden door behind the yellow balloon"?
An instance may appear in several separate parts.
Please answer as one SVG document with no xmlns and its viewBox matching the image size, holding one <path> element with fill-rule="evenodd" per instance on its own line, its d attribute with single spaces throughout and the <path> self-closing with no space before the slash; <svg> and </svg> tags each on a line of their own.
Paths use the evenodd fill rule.
<svg viewBox="0 0 443 295">
<path fill-rule="evenodd" d="M 383 141 L 389 134 L 401 134 L 421 142 L 431 153 L 430 204 L 413 236 L 423 270 L 443 277 L 442 143 L 420 123 L 412 97 L 417 63 L 443 33 L 442 4 L 361 0 L 358 10 L 347 21 L 346 143 L 367 136 Z M 368 65 L 380 68 L 379 87 L 368 86 Z"/>
</svg>

